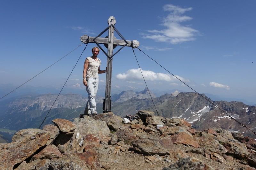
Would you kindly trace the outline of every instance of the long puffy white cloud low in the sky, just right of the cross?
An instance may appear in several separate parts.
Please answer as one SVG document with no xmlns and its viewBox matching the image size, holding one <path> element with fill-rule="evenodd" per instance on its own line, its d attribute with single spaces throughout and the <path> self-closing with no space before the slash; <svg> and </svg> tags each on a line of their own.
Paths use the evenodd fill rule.
<svg viewBox="0 0 256 170">
<path fill-rule="evenodd" d="M 143 77 L 145 80 L 162 80 L 162 81 L 168 81 L 168 82 L 175 82 L 178 81 L 177 78 L 179 78 L 183 82 L 190 82 L 189 79 L 182 78 L 178 75 L 175 75 L 177 78 L 170 74 L 165 74 L 165 73 L 155 73 L 150 70 L 142 70 L 140 71 L 140 68 L 138 69 L 130 69 L 126 71 L 126 73 L 120 73 L 116 75 L 116 78 L 119 80 L 125 80 L 125 81 L 131 81 L 134 82 L 134 80 L 143 80 L 143 77 L 141 75 L 141 72 L 143 74 Z"/>
</svg>

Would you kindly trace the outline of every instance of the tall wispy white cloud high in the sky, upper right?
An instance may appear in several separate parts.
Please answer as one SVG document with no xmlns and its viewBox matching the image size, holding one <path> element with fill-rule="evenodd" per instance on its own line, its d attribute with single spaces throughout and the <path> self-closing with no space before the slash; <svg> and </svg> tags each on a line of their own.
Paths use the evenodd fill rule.
<svg viewBox="0 0 256 170">
<path fill-rule="evenodd" d="M 163 18 L 162 30 L 148 30 L 148 33 L 142 33 L 143 38 L 153 39 L 158 42 L 169 42 L 177 44 L 186 41 L 194 41 L 195 36 L 199 31 L 191 28 L 190 26 L 182 26 L 180 23 L 189 21 L 192 18 L 183 15 L 186 11 L 191 11 L 192 8 L 181 8 L 172 4 L 164 5 L 164 11 L 169 14 Z"/>
</svg>

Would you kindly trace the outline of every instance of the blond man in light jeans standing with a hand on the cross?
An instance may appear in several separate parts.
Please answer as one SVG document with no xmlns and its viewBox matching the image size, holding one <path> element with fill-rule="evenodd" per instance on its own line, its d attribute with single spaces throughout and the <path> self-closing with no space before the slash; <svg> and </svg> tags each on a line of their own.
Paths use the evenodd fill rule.
<svg viewBox="0 0 256 170">
<path fill-rule="evenodd" d="M 86 86 L 86 92 L 88 93 L 88 101 L 84 109 L 84 115 L 90 117 L 97 115 L 95 97 L 99 84 L 98 74 L 107 72 L 107 67 L 106 70 L 100 70 L 101 61 L 97 58 L 99 53 L 100 49 L 98 47 L 93 47 L 92 56 L 87 57 L 84 61 L 83 81 Z"/>
</svg>

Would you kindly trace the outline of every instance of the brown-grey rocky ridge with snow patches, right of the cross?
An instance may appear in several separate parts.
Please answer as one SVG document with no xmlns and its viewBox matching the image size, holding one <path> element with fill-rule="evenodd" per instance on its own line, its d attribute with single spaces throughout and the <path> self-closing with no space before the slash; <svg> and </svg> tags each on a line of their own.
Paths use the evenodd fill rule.
<svg viewBox="0 0 256 170">
<path fill-rule="evenodd" d="M 207 99 L 207 100 L 205 100 Z M 208 101 L 209 100 L 209 101 Z M 234 132 L 241 132 L 244 136 L 255 137 L 250 130 L 231 120 L 223 111 L 237 119 L 249 129 L 256 127 L 256 107 L 248 106 L 237 101 L 212 101 L 204 94 L 195 92 L 174 92 L 153 99 L 132 98 L 124 103 L 114 103 L 111 111 L 123 117 L 126 114 L 136 114 L 138 110 L 150 110 L 164 118 L 182 118 L 188 121 L 196 130 L 216 127 Z M 219 108 L 217 108 L 218 106 Z M 157 109 L 157 110 L 156 110 Z M 157 112 L 156 112 L 157 111 Z"/>
</svg>

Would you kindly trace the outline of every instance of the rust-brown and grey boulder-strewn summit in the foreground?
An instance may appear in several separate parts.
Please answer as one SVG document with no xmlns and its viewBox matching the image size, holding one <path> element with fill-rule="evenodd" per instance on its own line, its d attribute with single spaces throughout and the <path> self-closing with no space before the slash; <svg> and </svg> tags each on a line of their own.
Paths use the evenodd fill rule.
<svg viewBox="0 0 256 170">
<path fill-rule="evenodd" d="M 130 120 L 127 121 L 127 120 Z M 124 123 L 126 122 L 126 123 Z M 253 170 L 256 141 L 219 128 L 193 129 L 180 118 L 140 110 L 125 120 L 112 112 L 73 122 L 54 119 L 22 129 L 0 144 L 0 169 Z"/>
</svg>

